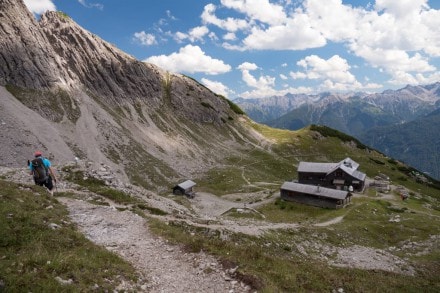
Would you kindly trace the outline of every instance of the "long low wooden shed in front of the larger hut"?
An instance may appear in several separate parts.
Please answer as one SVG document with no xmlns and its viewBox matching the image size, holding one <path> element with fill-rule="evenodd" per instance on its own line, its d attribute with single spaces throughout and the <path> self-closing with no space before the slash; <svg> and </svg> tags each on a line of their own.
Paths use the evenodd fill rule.
<svg viewBox="0 0 440 293">
<path fill-rule="evenodd" d="M 352 196 L 348 191 L 297 182 L 284 182 L 280 193 L 284 200 L 332 209 L 344 207 Z"/>
</svg>

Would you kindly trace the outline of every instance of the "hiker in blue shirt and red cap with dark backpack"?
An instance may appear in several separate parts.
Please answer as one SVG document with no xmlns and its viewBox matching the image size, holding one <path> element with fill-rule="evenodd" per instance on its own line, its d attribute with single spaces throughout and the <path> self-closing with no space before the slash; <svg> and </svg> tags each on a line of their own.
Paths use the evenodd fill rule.
<svg viewBox="0 0 440 293">
<path fill-rule="evenodd" d="M 36 151 L 34 156 L 35 158 L 28 164 L 31 170 L 30 174 L 34 176 L 36 185 L 46 186 L 49 193 L 53 195 L 53 182 L 56 183 L 57 178 L 51 163 L 47 158 L 43 157 L 40 151 Z"/>
</svg>

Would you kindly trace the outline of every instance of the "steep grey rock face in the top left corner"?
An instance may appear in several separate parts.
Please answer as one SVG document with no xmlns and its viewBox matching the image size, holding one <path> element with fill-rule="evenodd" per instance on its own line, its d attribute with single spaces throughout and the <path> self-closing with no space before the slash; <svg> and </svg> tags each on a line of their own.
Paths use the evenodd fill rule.
<svg viewBox="0 0 440 293">
<path fill-rule="evenodd" d="M 60 63 L 22 1 L 0 0 L 0 84 L 47 88 L 59 82 Z"/>
</svg>

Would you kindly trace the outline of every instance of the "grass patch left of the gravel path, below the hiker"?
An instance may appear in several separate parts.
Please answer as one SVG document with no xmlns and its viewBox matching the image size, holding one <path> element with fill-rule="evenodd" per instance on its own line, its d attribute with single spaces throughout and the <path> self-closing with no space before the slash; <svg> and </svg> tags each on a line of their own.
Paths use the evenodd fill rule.
<svg viewBox="0 0 440 293">
<path fill-rule="evenodd" d="M 89 292 L 96 284 L 104 292 L 136 281 L 133 267 L 78 233 L 67 215 L 43 188 L 0 181 L 0 291 Z"/>
</svg>

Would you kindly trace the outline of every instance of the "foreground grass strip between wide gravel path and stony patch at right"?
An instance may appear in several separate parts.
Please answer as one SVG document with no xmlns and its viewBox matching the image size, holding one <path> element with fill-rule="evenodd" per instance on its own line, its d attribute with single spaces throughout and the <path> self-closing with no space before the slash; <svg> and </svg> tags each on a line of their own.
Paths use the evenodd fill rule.
<svg viewBox="0 0 440 293">
<path fill-rule="evenodd" d="M 439 265 L 433 259 L 423 259 L 419 263 L 419 275 L 410 277 L 382 271 L 330 267 L 324 262 L 299 255 L 292 247 L 298 238 L 310 240 L 316 238 L 313 235 L 319 231 L 329 234 L 329 229 L 307 228 L 252 237 L 227 232 L 220 235 L 215 230 L 177 222 L 166 225 L 151 221 L 151 225 L 155 233 L 171 242 L 183 243 L 188 251 L 203 250 L 217 255 L 224 264 L 238 266 L 238 277 L 258 292 L 332 292 L 337 288 L 344 288 L 345 292 L 440 290 L 437 278 Z M 225 237 L 227 240 L 222 240 Z"/>
</svg>

